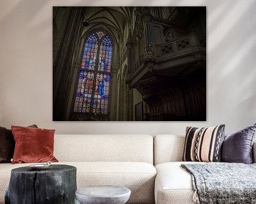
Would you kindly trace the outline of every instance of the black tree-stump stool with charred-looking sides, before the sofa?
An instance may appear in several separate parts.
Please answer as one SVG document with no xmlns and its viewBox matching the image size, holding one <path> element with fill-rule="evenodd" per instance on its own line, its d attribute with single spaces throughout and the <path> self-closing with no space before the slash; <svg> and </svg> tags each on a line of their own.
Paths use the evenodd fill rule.
<svg viewBox="0 0 256 204">
<path fill-rule="evenodd" d="M 75 203 L 75 166 L 55 164 L 48 169 L 33 170 L 29 166 L 11 170 L 6 204 L 70 204 Z"/>
</svg>

